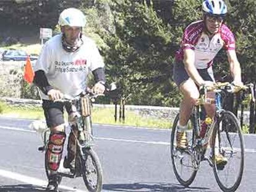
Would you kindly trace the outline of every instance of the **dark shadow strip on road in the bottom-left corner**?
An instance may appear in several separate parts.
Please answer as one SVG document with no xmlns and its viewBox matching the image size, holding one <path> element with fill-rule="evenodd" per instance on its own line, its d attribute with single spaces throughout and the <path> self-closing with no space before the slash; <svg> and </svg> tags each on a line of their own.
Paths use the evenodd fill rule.
<svg viewBox="0 0 256 192">
<path fill-rule="evenodd" d="M 41 192 L 45 191 L 42 186 L 36 185 L 1 185 L 1 192 Z"/>
</svg>

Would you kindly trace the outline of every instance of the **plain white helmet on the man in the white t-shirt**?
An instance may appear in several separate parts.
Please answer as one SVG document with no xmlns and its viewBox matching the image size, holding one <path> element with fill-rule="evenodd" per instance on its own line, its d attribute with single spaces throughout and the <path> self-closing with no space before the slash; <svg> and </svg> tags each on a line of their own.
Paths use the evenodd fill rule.
<svg viewBox="0 0 256 192">
<path fill-rule="evenodd" d="M 65 9 L 59 15 L 58 23 L 60 26 L 85 27 L 85 15 L 83 15 L 83 12 L 79 9 Z"/>
</svg>

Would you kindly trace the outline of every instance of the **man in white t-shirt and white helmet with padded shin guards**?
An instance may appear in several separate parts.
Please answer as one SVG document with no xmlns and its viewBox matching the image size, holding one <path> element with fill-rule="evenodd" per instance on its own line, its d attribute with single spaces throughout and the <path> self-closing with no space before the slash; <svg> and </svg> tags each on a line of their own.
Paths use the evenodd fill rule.
<svg viewBox="0 0 256 192">
<path fill-rule="evenodd" d="M 92 88 L 93 92 L 105 91 L 105 65 L 96 44 L 82 34 L 85 22 L 85 15 L 80 10 L 75 8 L 63 10 L 58 22 L 62 33 L 53 36 L 45 43 L 34 67 L 34 83 L 40 88 L 46 123 L 51 130 L 46 155 L 51 170 L 48 191 L 58 191 L 56 171 L 59 168 L 66 139 L 64 107 L 67 112 L 70 111 L 68 106 L 54 100 L 60 99 L 62 94 L 77 96 L 85 91 L 90 71 L 96 81 Z M 74 141 L 72 136 L 74 135 L 69 135 L 69 144 Z M 72 169 L 74 153 L 70 151 L 64 160 L 64 167 Z"/>
</svg>

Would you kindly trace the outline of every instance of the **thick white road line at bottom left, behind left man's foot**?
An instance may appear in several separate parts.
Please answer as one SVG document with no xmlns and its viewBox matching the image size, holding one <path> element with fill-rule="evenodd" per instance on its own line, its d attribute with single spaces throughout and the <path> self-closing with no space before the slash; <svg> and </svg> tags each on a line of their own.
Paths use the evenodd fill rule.
<svg viewBox="0 0 256 192">
<path fill-rule="evenodd" d="M 34 178 L 34 177 L 28 177 L 27 175 L 22 175 L 20 173 L 10 172 L 7 170 L 2 170 L 2 169 L 0 169 L 0 177 L 10 178 L 12 180 L 17 180 L 22 183 L 28 183 L 28 184 L 36 185 L 36 186 L 46 187 L 46 185 L 47 185 L 47 181 L 45 181 L 45 180 L 40 180 L 40 179 Z M 62 190 L 68 190 L 68 191 L 74 191 L 74 192 L 85 192 L 85 191 L 76 190 L 72 187 L 64 186 L 64 185 L 60 185 L 59 188 L 61 188 Z"/>
</svg>

